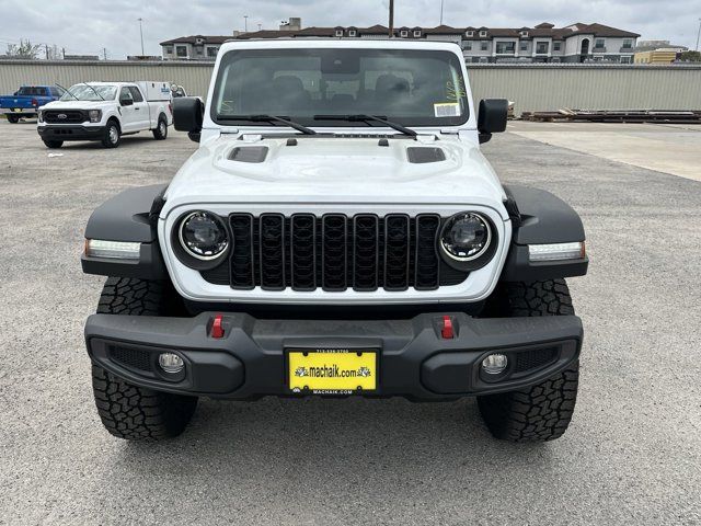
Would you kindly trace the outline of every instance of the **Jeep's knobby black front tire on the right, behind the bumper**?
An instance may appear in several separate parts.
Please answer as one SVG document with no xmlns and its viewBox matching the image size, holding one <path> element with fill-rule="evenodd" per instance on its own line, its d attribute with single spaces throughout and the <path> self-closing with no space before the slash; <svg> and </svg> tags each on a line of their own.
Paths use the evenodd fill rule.
<svg viewBox="0 0 701 526">
<path fill-rule="evenodd" d="M 491 316 L 574 315 L 564 279 L 502 285 L 487 306 Z M 560 438 L 572 420 L 577 399 L 579 363 L 541 384 L 517 391 L 478 397 L 478 407 L 496 438 L 547 442 Z"/>
</svg>

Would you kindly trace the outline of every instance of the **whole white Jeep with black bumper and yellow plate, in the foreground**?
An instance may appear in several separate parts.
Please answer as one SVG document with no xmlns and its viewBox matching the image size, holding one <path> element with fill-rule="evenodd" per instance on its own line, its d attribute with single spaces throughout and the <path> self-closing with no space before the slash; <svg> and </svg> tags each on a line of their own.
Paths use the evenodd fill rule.
<svg viewBox="0 0 701 526">
<path fill-rule="evenodd" d="M 207 103 L 174 102 L 198 150 L 85 230 L 105 427 L 175 436 L 198 397 L 476 397 L 498 438 L 560 437 L 585 233 L 480 152 L 507 106 L 474 107 L 452 44 L 225 44 Z"/>
</svg>

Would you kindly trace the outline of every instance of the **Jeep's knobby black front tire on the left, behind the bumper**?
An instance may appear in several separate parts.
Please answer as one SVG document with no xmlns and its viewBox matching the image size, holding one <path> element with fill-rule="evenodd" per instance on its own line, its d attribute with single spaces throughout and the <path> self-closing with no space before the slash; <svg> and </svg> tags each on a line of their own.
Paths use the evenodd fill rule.
<svg viewBox="0 0 701 526">
<path fill-rule="evenodd" d="M 172 316 L 181 300 L 166 282 L 110 277 L 97 304 L 97 313 Z M 114 436 L 130 441 L 172 438 L 185 431 L 197 407 L 197 397 L 185 397 L 137 387 L 92 366 L 97 413 Z"/>
</svg>

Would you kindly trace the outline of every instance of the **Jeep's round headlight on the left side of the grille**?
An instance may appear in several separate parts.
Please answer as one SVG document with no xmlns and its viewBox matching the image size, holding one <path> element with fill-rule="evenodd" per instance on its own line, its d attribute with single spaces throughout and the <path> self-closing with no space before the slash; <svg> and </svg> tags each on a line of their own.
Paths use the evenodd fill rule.
<svg viewBox="0 0 701 526">
<path fill-rule="evenodd" d="M 211 261 L 229 247 L 227 229 L 221 220 L 208 211 L 193 211 L 180 224 L 180 242 L 193 258 Z"/>
</svg>

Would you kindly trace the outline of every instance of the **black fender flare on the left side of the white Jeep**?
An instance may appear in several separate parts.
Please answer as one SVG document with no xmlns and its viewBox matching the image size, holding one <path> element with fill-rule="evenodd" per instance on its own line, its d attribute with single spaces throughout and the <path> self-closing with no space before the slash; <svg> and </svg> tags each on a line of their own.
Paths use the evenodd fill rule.
<svg viewBox="0 0 701 526">
<path fill-rule="evenodd" d="M 92 258 L 83 253 L 81 264 L 85 274 L 168 278 L 156 228 L 166 188 L 166 184 L 128 188 L 95 208 L 85 227 L 85 239 L 139 242 L 141 251 L 138 261 Z"/>
</svg>

